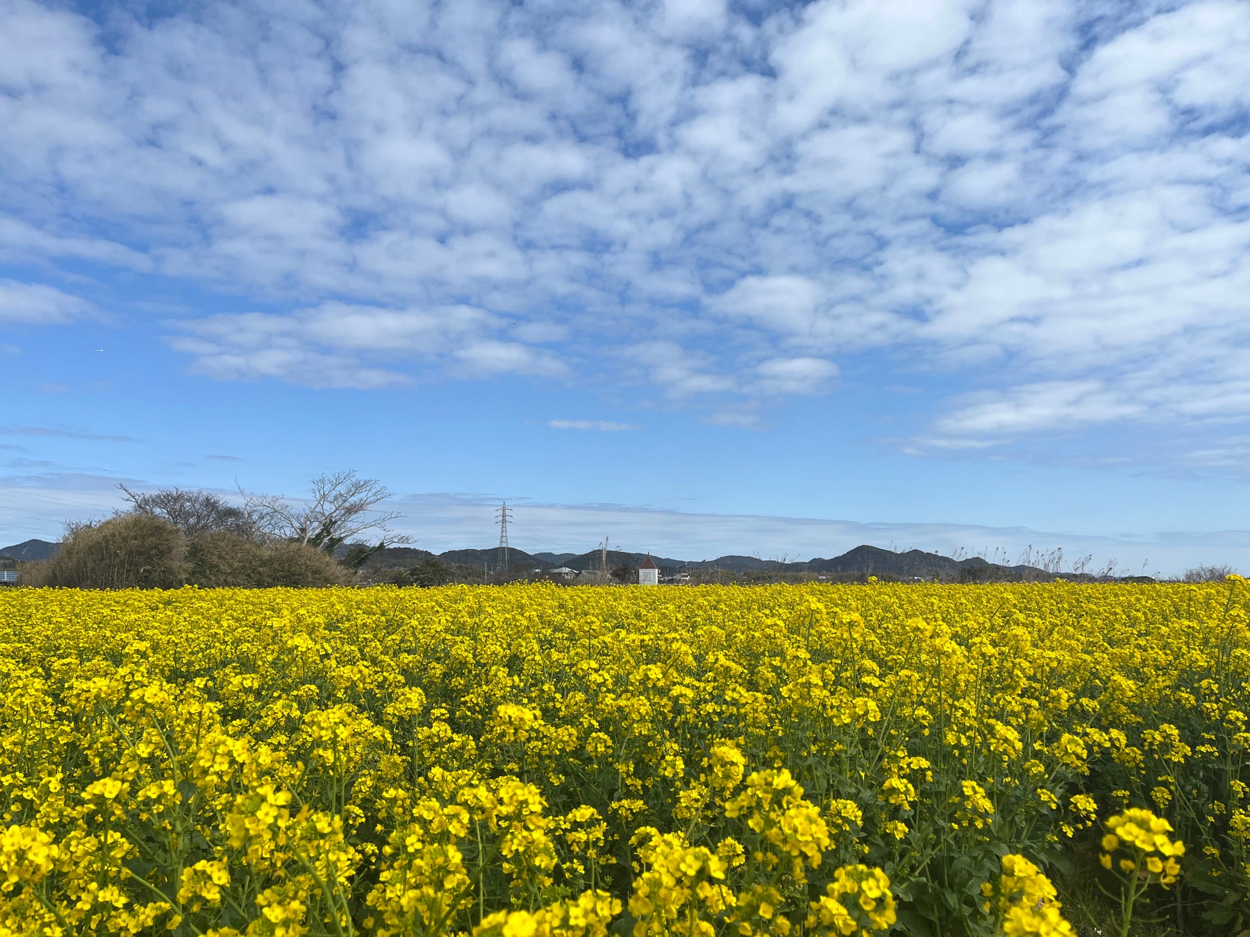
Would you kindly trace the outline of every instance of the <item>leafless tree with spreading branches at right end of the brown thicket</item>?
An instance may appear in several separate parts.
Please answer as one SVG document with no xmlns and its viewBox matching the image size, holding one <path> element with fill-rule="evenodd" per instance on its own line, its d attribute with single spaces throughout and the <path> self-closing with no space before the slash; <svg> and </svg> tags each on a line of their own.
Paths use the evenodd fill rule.
<svg viewBox="0 0 1250 937">
<path fill-rule="evenodd" d="M 309 497 L 299 501 L 288 501 L 284 495 L 251 495 L 241 487 L 239 493 L 246 516 L 261 533 L 274 540 L 304 543 L 328 553 L 365 535 L 380 535 L 379 543 L 369 553 L 411 541 L 392 535 L 388 527 L 402 513 L 378 508 L 395 492 L 376 478 L 361 478 L 354 468 L 314 478 Z"/>
</svg>

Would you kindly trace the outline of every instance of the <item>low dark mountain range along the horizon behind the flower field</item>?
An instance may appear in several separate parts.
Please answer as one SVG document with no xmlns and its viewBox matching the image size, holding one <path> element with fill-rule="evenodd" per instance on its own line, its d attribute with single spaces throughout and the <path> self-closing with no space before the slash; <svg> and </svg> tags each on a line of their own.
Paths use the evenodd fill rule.
<svg viewBox="0 0 1250 937">
<path fill-rule="evenodd" d="M 60 546 L 60 543 L 50 543 L 46 540 L 28 540 L 22 543 L 0 548 L 0 557 L 25 562 L 48 560 L 55 556 Z M 610 550 L 608 551 L 608 568 L 615 570 L 621 566 L 636 567 L 645 556 L 646 553 Z M 436 556 L 428 550 L 418 550 L 415 547 L 388 547 L 375 553 L 369 563 L 375 567 L 408 568 L 435 558 L 456 566 L 485 566 L 494 572 L 499 565 L 499 547 L 448 550 Z M 1055 575 L 1036 566 L 991 563 L 979 556 L 972 556 L 968 560 L 955 560 L 941 553 L 928 553 L 921 550 L 909 550 L 905 553 L 896 553 L 891 550 L 881 550 L 880 547 L 868 545 L 858 546 L 831 560 L 816 557 L 802 562 L 782 562 L 780 560 L 760 560 L 756 556 L 735 555 L 720 556 L 715 560 L 672 560 L 664 556 L 652 556 L 651 558 L 655 560 L 655 565 L 660 567 L 660 572 L 664 576 L 708 570 L 724 570 L 735 573 L 811 572 L 830 576 L 875 575 L 894 578 L 932 578 L 936 576 L 945 580 L 1019 580 Z M 510 548 L 508 553 L 508 566 L 511 572 L 546 572 L 561 566 L 585 572 L 600 568 L 601 562 L 602 558 L 598 550 L 585 553 L 526 553 L 524 550 Z"/>
</svg>

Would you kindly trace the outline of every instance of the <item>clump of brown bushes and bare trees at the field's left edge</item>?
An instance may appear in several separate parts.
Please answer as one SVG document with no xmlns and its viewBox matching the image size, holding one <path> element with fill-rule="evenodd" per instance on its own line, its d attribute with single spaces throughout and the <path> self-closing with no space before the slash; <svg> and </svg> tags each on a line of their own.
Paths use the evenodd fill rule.
<svg viewBox="0 0 1250 937">
<path fill-rule="evenodd" d="M 240 490 L 241 503 L 234 505 L 206 491 L 120 487 L 129 506 L 104 521 L 68 525 L 56 556 L 24 566 L 26 585 L 346 585 L 370 556 L 408 542 L 388 527 L 401 515 L 378 510 L 392 492 L 355 471 L 315 478 L 299 501 Z"/>
</svg>

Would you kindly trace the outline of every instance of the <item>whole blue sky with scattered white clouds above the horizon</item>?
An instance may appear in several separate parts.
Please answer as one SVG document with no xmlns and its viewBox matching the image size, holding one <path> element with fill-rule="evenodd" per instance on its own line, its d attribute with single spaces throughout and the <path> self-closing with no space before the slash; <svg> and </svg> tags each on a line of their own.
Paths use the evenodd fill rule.
<svg viewBox="0 0 1250 937">
<path fill-rule="evenodd" d="M 1250 4 L 0 0 L 0 541 L 1245 567 Z M 1240 531 L 1240 532 L 1239 532 Z"/>
</svg>

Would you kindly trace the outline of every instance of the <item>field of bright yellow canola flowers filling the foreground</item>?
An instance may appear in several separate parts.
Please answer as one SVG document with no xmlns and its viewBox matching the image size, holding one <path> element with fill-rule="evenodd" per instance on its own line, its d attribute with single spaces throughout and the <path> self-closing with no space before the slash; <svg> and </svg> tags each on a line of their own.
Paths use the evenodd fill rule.
<svg viewBox="0 0 1250 937">
<path fill-rule="evenodd" d="M 0 935 L 1075 933 L 1048 876 L 1235 935 L 1248 612 L 1235 577 L 0 592 Z"/>
</svg>

